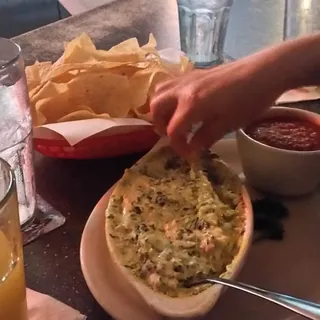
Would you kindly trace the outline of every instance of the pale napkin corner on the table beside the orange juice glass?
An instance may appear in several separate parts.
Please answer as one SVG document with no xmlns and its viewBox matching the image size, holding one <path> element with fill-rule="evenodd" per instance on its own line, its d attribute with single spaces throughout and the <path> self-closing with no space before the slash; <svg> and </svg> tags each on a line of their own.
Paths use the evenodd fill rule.
<svg viewBox="0 0 320 320">
<path fill-rule="evenodd" d="M 27 289 L 29 320 L 85 320 L 79 311 L 63 304 L 54 298 Z"/>
</svg>

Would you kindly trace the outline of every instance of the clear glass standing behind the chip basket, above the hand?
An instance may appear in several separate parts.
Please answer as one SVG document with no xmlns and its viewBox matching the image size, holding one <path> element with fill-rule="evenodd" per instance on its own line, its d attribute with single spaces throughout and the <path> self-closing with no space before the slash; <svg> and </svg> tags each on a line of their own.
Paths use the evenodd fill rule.
<svg viewBox="0 0 320 320">
<path fill-rule="evenodd" d="M 177 0 L 181 50 L 196 67 L 223 62 L 233 0 Z"/>
</svg>

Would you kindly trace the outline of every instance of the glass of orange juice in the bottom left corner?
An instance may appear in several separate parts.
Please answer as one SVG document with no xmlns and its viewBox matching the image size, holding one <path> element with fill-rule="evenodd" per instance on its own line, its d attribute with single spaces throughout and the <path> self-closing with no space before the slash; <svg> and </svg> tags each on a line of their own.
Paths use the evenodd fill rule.
<svg viewBox="0 0 320 320">
<path fill-rule="evenodd" d="M 0 159 L 0 319 L 28 319 L 16 183 L 13 171 L 3 159 Z"/>
</svg>

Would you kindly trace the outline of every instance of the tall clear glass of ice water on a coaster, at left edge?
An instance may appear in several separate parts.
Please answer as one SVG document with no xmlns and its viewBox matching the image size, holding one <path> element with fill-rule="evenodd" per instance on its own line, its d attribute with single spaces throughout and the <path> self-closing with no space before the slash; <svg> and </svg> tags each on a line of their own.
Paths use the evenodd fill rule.
<svg viewBox="0 0 320 320">
<path fill-rule="evenodd" d="M 0 157 L 14 171 L 20 223 L 33 218 L 36 194 L 32 115 L 20 47 L 0 38 Z"/>
</svg>

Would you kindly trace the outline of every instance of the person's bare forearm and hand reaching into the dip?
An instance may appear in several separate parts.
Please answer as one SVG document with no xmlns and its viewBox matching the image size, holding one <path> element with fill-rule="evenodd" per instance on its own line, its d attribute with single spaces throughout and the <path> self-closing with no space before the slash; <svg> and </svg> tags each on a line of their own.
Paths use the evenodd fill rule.
<svg viewBox="0 0 320 320">
<path fill-rule="evenodd" d="M 181 154 L 199 151 L 252 122 L 285 91 L 320 84 L 320 34 L 161 84 L 151 99 L 156 127 Z M 202 122 L 190 144 L 192 125 Z"/>
</svg>

